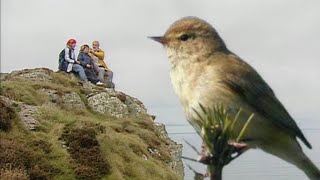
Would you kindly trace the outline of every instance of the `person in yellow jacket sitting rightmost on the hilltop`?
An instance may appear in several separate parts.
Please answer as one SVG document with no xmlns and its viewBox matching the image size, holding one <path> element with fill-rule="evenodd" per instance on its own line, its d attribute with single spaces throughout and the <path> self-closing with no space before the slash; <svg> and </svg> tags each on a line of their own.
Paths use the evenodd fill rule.
<svg viewBox="0 0 320 180">
<path fill-rule="evenodd" d="M 104 62 L 104 51 L 100 49 L 99 46 L 99 41 L 93 41 L 92 49 L 90 49 L 89 55 L 94 60 L 94 68 L 96 72 L 98 72 L 98 79 L 101 82 L 107 84 L 108 88 L 114 89 L 115 85 L 112 82 L 113 72 L 108 68 L 108 66 Z"/>
</svg>

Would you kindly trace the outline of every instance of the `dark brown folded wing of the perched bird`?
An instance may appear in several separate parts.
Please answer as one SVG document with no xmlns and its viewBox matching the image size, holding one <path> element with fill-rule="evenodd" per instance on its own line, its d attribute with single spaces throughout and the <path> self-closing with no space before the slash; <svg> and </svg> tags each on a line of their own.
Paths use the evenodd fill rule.
<svg viewBox="0 0 320 180">
<path fill-rule="evenodd" d="M 271 120 L 278 127 L 298 136 L 311 149 L 310 143 L 296 122 L 260 75 L 242 60 L 232 61 L 228 63 L 227 68 L 221 68 L 222 83 L 240 95 L 256 112 Z"/>
</svg>

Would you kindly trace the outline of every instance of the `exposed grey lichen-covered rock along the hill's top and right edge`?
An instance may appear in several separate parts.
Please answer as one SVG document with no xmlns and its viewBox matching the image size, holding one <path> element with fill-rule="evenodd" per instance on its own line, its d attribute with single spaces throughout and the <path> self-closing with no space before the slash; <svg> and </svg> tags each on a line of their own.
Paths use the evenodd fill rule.
<svg viewBox="0 0 320 180">
<path fill-rule="evenodd" d="M 75 81 L 76 78 L 72 74 L 66 74 L 69 76 L 68 79 Z M 55 83 L 55 78 L 63 74 L 55 73 L 49 69 L 32 69 L 14 71 L 10 74 L 2 74 L 1 81 L 14 81 L 15 79 L 22 79 L 26 81 L 36 82 L 51 82 Z M 147 109 L 141 101 L 138 99 L 126 95 L 122 92 L 115 91 L 113 89 L 106 89 L 97 87 L 91 83 L 85 82 L 73 82 L 79 86 L 77 91 L 61 91 L 59 88 L 54 86 L 46 86 L 37 88 L 37 92 L 44 95 L 44 104 L 53 103 L 62 105 L 61 107 L 68 107 L 71 109 L 90 109 L 91 111 L 98 112 L 117 120 L 124 117 L 139 117 L 149 116 L 150 121 L 153 121 L 155 117 L 148 114 Z M 37 86 L 35 86 L 37 87 Z M 8 97 L 1 96 L 1 99 L 8 102 L 14 103 L 19 107 L 20 112 L 18 113 L 20 119 L 23 121 L 25 127 L 29 130 L 35 130 L 37 127 L 36 116 L 38 113 L 38 106 L 26 104 L 25 102 L 19 101 L 19 99 L 9 99 Z M 154 123 L 155 130 L 159 134 L 159 138 L 165 139 L 169 142 L 168 150 L 170 152 L 171 160 L 167 162 L 168 166 L 171 167 L 181 177 L 184 175 L 184 167 L 181 161 L 182 145 L 172 141 L 165 130 L 163 124 Z M 148 149 L 149 153 L 157 153 L 157 149 Z M 143 155 L 144 159 L 147 159 L 146 155 Z"/>
</svg>

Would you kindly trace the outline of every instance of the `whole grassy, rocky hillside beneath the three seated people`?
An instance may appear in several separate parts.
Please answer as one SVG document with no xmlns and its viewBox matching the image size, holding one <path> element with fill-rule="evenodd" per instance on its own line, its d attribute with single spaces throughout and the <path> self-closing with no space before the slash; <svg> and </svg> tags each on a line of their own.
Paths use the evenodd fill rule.
<svg viewBox="0 0 320 180">
<path fill-rule="evenodd" d="M 1 177 L 183 178 L 182 146 L 122 92 L 49 69 L 1 74 Z"/>
</svg>

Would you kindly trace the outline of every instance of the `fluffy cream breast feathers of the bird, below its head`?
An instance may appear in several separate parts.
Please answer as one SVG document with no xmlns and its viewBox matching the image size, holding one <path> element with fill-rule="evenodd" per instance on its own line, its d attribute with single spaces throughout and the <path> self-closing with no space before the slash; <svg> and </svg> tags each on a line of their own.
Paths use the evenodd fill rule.
<svg viewBox="0 0 320 180">
<path fill-rule="evenodd" d="M 215 102 L 232 98 L 220 83 L 220 75 L 214 66 L 202 62 L 180 59 L 170 71 L 175 93 L 186 113 L 202 104 L 212 106 Z"/>
</svg>

